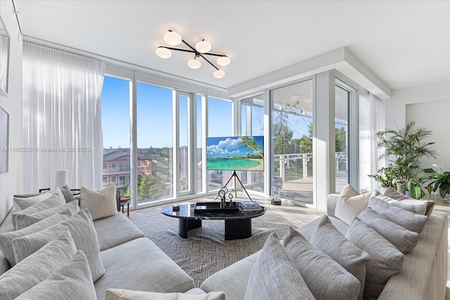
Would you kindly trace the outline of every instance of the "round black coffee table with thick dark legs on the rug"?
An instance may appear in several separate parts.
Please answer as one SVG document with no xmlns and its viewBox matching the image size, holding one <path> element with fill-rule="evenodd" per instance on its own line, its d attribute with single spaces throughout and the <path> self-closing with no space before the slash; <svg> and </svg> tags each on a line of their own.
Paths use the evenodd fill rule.
<svg viewBox="0 0 450 300">
<path fill-rule="evenodd" d="M 166 216 L 179 219 L 178 234 L 186 238 L 188 230 L 202 227 L 202 220 L 225 220 L 225 240 L 237 240 L 252 236 L 252 218 L 262 216 L 261 211 L 236 211 L 224 213 L 195 213 L 195 203 L 179 204 L 180 210 L 173 211 L 172 205 L 162 207 L 160 211 Z"/>
</svg>

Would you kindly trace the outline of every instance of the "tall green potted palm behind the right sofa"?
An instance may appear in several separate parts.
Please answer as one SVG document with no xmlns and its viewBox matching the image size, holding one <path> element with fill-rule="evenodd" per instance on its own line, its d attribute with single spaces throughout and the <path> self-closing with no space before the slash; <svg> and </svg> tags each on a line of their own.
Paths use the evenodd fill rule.
<svg viewBox="0 0 450 300">
<path fill-rule="evenodd" d="M 383 148 L 384 152 L 379 159 L 387 159 L 392 164 L 392 176 L 394 183 L 402 185 L 403 188 L 397 186 L 397 190 L 405 193 L 408 183 L 410 192 L 416 198 L 423 197 L 425 193 L 420 193 L 420 178 L 423 169 L 420 167 L 420 159 L 422 157 L 435 158 L 436 150 L 431 148 L 434 142 L 424 141 L 432 135 L 432 131 L 425 127 L 414 129 L 415 122 L 411 121 L 402 129 L 385 129 L 378 131 L 378 148 Z M 422 191 L 423 192 L 423 191 Z"/>
</svg>

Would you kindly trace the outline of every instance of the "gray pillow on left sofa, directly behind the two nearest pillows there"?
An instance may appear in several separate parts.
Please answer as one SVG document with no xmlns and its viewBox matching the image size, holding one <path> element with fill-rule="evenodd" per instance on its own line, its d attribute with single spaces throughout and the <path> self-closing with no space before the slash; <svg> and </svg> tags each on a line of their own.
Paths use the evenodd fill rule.
<svg viewBox="0 0 450 300">
<path fill-rule="evenodd" d="M 25 228 L 26 229 L 26 228 Z M 13 240 L 15 259 L 18 261 L 37 252 L 44 244 L 58 236 L 61 231 L 69 230 L 77 249 L 86 254 L 89 268 L 91 268 L 92 279 L 94 282 L 105 273 L 103 262 L 100 256 L 100 247 L 98 246 L 98 237 L 92 223 L 91 214 L 87 209 L 82 209 L 61 223 L 22 237 L 16 237 Z"/>
</svg>

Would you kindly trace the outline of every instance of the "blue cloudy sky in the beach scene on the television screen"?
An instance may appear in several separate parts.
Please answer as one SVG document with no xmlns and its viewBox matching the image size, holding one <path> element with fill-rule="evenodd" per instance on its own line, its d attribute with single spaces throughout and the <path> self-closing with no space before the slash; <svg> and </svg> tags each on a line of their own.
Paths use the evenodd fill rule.
<svg viewBox="0 0 450 300">
<path fill-rule="evenodd" d="M 262 136 L 255 136 L 255 140 L 259 145 L 263 145 Z M 245 156 L 247 153 L 257 154 L 253 150 L 246 149 L 244 145 L 239 145 L 240 141 L 242 140 L 239 137 L 207 138 L 207 157 Z"/>
</svg>

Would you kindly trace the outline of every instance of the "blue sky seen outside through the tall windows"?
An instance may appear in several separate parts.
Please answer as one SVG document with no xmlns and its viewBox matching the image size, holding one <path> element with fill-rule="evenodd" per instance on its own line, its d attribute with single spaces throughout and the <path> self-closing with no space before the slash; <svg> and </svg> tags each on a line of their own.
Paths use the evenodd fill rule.
<svg viewBox="0 0 450 300">
<path fill-rule="evenodd" d="M 130 104 L 129 81 L 105 76 L 101 95 L 103 148 L 129 148 Z M 200 97 L 199 97 L 200 98 Z M 186 98 L 181 99 L 180 126 L 187 126 Z M 198 99 L 198 119 L 201 118 L 201 101 Z M 210 98 L 208 101 L 208 136 L 233 136 L 231 103 Z M 262 135 L 258 129 L 263 110 L 253 110 L 253 134 Z M 138 148 L 172 147 L 172 89 L 150 84 L 137 84 L 137 141 Z M 308 135 L 310 118 L 288 115 L 285 121 L 293 130 L 293 138 Z M 201 123 L 197 133 L 201 136 Z M 180 145 L 187 143 L 187 130 L 181 131 Z M 201 138 L 198 139 L 198 146 Z"/>
</svg>

